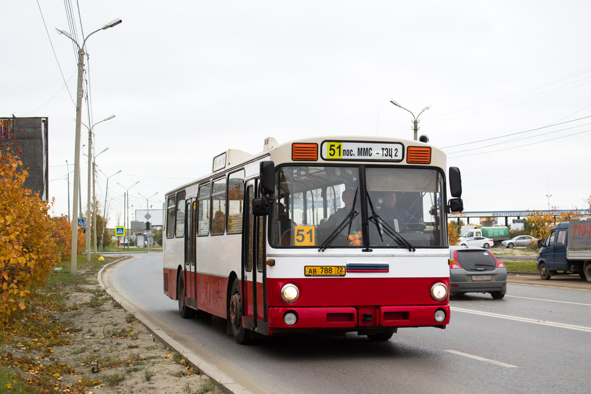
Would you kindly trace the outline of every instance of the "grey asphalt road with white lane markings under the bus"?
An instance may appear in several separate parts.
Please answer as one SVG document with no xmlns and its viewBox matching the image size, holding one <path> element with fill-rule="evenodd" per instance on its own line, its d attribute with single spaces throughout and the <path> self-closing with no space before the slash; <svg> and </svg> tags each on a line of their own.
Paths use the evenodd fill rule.
<svg viewBox="0 0 591 394">
<path fill-rule="evenodd" d="M 453 296 L 445 330 L 401 328 L 385 343 L 348 334 L 240 346 L 225 320 L 180 318 L 176 301 L 163 294 L 162 253 L 137 255 L 106 274 L 168 335 L 253 393 L 589 392 L 591 284 L 581 279 L 579 288 L 510 279 L 501 300 Z"/>
</svg>

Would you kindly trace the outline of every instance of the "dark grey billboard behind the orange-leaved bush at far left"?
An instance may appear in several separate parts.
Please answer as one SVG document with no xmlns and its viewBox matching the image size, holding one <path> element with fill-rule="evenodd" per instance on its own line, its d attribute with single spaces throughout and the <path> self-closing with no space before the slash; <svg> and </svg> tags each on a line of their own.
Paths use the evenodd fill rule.
<svg viewBox="0 0 591 394">
<path fill-rule="evenodd" d="M 0 118 L 0 141 L 14 136 L 21 148 L 22 168 L 28 171 L 25 187 L 49 196 L 48 118 Z M 4 141 L 3 141 L 4 142 Z"/>
</svg>

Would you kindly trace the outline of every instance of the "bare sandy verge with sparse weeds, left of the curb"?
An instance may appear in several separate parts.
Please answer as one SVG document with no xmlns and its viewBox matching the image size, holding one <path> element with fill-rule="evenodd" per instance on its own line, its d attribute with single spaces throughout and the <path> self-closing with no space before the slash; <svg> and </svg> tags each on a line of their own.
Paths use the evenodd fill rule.
<svg viewBox="0 0 591 394">
<path fill-rule="evenodd" d="M 96 274 L 95 274 L 96 275 Z M 61 364 L 75 367 L 75 375 L 62 376 L 74 385 L 87 380 L 85 393 L 222 393 L 197 367 L 154 337 L 134 315 L 125 311 L 100 288 L 98 282 L 71 289 L 69 304 L 86 307 L 53 312 L 78 330 L 71 344 L 53 349 Z M 96 284 L 94 284 L 96 282 Z"/>
</svg>

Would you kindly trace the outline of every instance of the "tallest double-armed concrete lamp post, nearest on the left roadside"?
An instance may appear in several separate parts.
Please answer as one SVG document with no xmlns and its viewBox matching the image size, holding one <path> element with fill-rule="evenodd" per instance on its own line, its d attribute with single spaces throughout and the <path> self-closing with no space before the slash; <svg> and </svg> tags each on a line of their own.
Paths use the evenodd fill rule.
<svg viewBox="0 0 591 394">
<path fill-rule="evenodd" d="M 104 25 L 102 28 L 97 29 L 91 32 L 86 38 L 82 41 L 82 45 L 79 45 L 76 40 L 72 38 L 69 32 L 66 30 L 60 30 L 56 28 L 58 34 L 63 34 L 67 38 L 70 38 L 74 44 L 78 47 L 78 87 L 77 87 L 77 96 L 76 96 L 76 138 L 74 139 L 74 206 L 72 211 L 72 217 L 75 218 L 78 216 L 78 196 L 77 190 L 80 184 L 80 124 L 82 123 L 82 74 L 84 69 L 84 45 L 86 44 L 86 40 L 100 30 L 106 30 L 109 27 L 116 26 L 120 24 L 122 21 L 121 19 L 114 19 L 113 21 L 109 22 L 108 24 Z M 82 207 L 80 207 L 82 208 Z M 78 255 L 78 223 L 72 220 L 72 258 L 70 262 L 70 269 L 72 271 L 72 275 L 76 275 L 76 258 Z"/>
</svg>

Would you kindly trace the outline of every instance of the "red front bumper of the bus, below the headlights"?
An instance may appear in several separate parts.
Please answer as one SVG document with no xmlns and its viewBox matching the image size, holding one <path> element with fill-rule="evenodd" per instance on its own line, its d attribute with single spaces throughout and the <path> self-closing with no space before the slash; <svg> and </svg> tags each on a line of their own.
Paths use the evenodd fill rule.
<svg viewBox="0 0 591 394">
<path fill-rule="evenodd" d="M 437 321 L 436 311 L 444 312 Z M 295 314 L 296 323 L 288 325 L 286 314 Z M 438 312 L 441 317 L 441 312 Z M 293 315 L 291 316 L 293 318 Z M 400 305 L 382 307 L 302 307 L 269 308 L 269 328 L 377 328 L 377 327 L 441 327 L 449 324 L 446 305 Z M 289 321 L 289 319 L 287 319 Z M 293 319 L 292 319 L 293 320 Z"/>
</svg>

